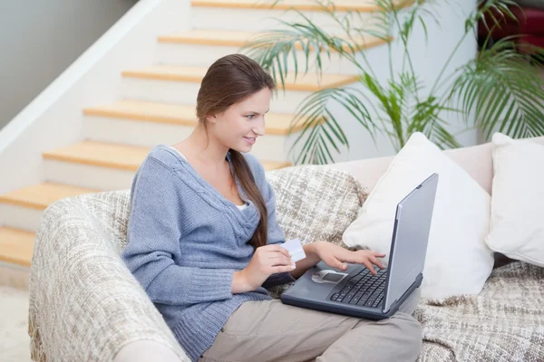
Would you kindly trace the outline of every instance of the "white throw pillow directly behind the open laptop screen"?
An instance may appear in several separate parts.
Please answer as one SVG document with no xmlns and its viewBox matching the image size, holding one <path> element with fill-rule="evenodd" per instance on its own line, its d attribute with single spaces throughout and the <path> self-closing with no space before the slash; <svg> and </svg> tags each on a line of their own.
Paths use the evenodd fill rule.
<svg viewBox="0 0 544 362">
<path fill-rule="evenodd" d="M 440 177 L 423 268 L 424 298 L 478 294 L 493 268 L 489 233 L 491 196 L 452 158 L 414 133 L 370 193 L 354 223 L 345 230 L 347 246 L 386 254 L 396 205 L 432 173 Z"/>
</svg>

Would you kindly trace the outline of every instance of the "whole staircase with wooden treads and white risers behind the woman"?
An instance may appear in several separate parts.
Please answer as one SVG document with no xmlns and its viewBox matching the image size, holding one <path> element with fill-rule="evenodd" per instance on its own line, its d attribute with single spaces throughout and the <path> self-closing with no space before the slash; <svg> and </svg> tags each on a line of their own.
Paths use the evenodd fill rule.
<svg viewBox="0 0 544 362">
<path fill-rule="evenodd" d="M 0 195 L 0 264 L 28 267 L 35 230 L 44 209 L 64 197 L 127 189 L 142 160 L 158 144 L 186 138 L 197 124 L 194 112 L 199 83 L 212 62 L 238 52 L 267 25 L 265 17 L 280 17 L 295 5 L 310 18 L 319 16 L 311 0 L 284 0 L 270 9 L 256 0 L 193 0 L 191 28 L 157 38 L 157 62 L 147 68 L 122 71 L 120 100 L 83 109 L 83 141 L 43 153 L 46 182 Z M 335 1 L 343 11 L 372 14 L 364 0 Z M 231 18 L 245 17 L 240 24 Z M 317 20 L 316 20 L 317 21 Z M 364 48 L 383 42 L 356 40 Z M 302 53 L 299 52 L 302 59 Z M 259 138 L 252 153 L 267 170 L 287 167 L 287 151 L 301 129 L 288 135 L 296 106 L 311 92 L 356 81 L 355 70 L 333 59 L 320 80 L 309 72 L 296 81 L 287 76 L 286 91 L 272 100 L 267 115 L 267 137 Z M 104 85 L 107 87 L 107 85 Z M 0 271 L 1 272 L 1 271 Z"/>
</svg>

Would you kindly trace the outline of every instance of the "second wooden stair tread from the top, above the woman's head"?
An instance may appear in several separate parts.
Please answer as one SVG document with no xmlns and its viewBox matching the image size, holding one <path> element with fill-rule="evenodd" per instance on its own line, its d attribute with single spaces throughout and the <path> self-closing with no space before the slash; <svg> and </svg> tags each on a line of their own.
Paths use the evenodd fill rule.
<svg viewBox="0 0 544 362">
<path fill-rule="evenodd" d="M 248 43 L 249 40 L 261 35 L 263 35 L 263 33 L 224 31 L 213 29 L 193 29 L 189 30 L 188 32 L 162 35 L 159 37 L 159 43 L 181 43 L 241 47 L 242 45 Z M 366 35 L 364 37 L 355 37 L 355 43 L 351 43 L 354 45 L 354 47 L 356 44 L 361 49 L 368 49 L 377 45 L 384 44 L 386 42 L 375 36 Z M 303 50 L 302 45 L 300 43 L 296 43 L 296 49 L 299 51 Z M 344 50 L 349 50 L 347 44 L 345 44 Z"/>
</svg>

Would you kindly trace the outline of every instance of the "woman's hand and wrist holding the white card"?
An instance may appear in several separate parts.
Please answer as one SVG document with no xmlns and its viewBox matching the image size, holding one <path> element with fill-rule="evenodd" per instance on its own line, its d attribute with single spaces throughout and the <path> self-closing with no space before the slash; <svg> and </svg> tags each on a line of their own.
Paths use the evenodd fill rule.
<svg viewBox="0 0 544 362">
<path fill-rule="evenodd" d="M 232 292 L 255 291 L 271 274 L 293 271 L 294 267 L 295 262 L 291 262 L 287 249 L 277 244 L 260 246 L 255 250 L 248 266 L 242 271 L 234 272 Z"/>
</svg>

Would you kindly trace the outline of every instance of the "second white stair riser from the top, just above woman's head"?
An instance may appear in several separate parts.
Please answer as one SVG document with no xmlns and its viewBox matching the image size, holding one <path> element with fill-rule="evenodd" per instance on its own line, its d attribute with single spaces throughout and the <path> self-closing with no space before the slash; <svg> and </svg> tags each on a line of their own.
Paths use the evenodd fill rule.
<svg viewBox="0 0 544 362">
<path fill-rule="evenodd" d="M 206 68 L 225 55 L 238 52 L 248 54 L 247 50 L 241 51 L 237 46 L 195 45 L 183 43 L 159 43 L 156 49 L 156 62 L 159 64 L 176 64 Z M 314 72 L 318 69 L 313 54 L 313 52 L 310 52 L 309 54 L 309 72 Z M 359 72 L 352 62 L 340 58 L 336 52 L 331 52 L 330 60 L 328 59 L 327 54 L 322 52 L 321 62 L 321 69 L 327 73 L 349 75 L 358 74 Z M 306 71 L 306 55 L 304 52 L 296 52 L 296 64 L 299 72 Z M 289 71 L 295 70 L 295 62 L 292 55 L 289 55 L 287 69 Z"/>
</svg>

